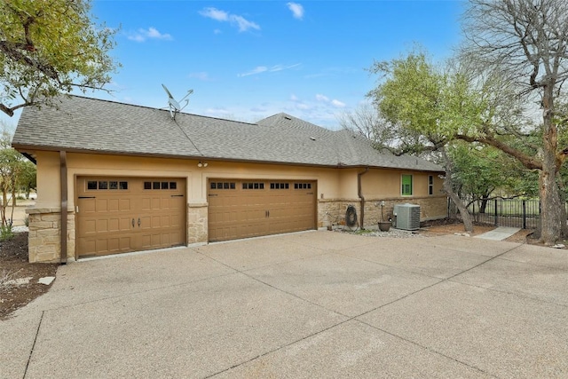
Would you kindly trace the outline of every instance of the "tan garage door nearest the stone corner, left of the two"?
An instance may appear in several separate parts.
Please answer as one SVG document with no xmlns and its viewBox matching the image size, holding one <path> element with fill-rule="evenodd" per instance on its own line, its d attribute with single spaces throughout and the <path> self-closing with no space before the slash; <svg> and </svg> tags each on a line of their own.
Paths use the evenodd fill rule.
<svg viewBox="0 0 568 379">
<path fill-rule="evenodd" d="M 77 178 L 79 257 L 185 244 L 185 179 Z"/>
</svg>

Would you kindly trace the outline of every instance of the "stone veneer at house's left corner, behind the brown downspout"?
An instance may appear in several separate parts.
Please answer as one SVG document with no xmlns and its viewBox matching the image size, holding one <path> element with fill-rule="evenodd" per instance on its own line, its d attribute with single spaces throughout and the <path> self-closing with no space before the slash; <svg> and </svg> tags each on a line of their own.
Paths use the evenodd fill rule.
<svg viewBox="0 0 568 379">
<path fill-rule="evenodd" d="M 28 260 L 31 263 L 60 261 L 61 209 L 31 208 L 28 213 Z M 75 212 L 67 213 L 67 259 L 75 260 Z"/>
</svg>

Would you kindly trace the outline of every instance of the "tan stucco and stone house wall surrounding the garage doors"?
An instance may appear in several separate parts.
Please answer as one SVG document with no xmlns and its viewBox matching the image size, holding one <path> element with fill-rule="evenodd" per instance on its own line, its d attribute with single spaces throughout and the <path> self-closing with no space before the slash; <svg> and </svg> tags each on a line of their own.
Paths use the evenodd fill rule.
<svg viewBox="0 0 568 379">
<path fill-rule="evenodd" d="M 55 215 L 60 215 L 59 211 L 53 210 L 60 208 L 59 152 L 39 151 L 35 154 L 38 194 L 36 209 L 51 209 L 49 212 L 37 212 L 37 214 L 46 213 L 50 215 L 48 218 L 56 218 Z M 68 208 L 72 212 L 75 210 L 75 183 L 79 176 L 185 178 L 187 243 L 207 242 L 209 178 L 304 179 L 317 181 L 318 227 L 339 223 L 350 204 L 356 207 L 360 215 L 357 177 L 364 171 L 363 169 L 313 168 L 211 160 L 204 160 L 208 166 L 199 168 L 198 162 L 198 160 L 67 153 Z M 414 176 L 413 196 L 402 198 L 400 195 L 403 173 Z M 429 175 L 432 174 L 401 170 L 368 170 L 361 176 L 362 193 L 367 200 L 365 225 L 375 224 L 380 218 L 380 207 L 377 206 L 380 201 L 385 201 L 387 204 L 383 207 L 385 216 L 387 212 L 392 213 L 394 203 L 411 202 L 423 204 L 422 218 L 446 217 L 446 197 L 440 195 L 439 191 L 441 180 L 434 175 L 434 195 L 429 196 L 427 194 Z M 71 213 L 70 217 L 74 223 L 75 215 Z M 33 227 L 37 227 L 33 226 L 34 223 L 40 222 L 43 223 L 41 217 L 30 217 L 30 231 Z M 38 225 L 43 228 L 47 224 Z M 72 228 L 67 233 L 70 248 L 67 252 L 68 257 L 75 257 L 75 224 L 70 226 Z M 40 242 L 36 239 L 35 243 Z M 40 255 L 36 254 L 36 257 Z"/>
</svg>

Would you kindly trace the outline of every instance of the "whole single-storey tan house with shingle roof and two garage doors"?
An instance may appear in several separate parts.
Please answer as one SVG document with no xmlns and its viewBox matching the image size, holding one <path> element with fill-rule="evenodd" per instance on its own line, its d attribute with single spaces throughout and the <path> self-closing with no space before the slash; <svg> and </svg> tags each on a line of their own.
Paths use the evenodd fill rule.
<svg viewBox="0 0 568 379">
<path fill-rule="evenodd" d="M 37 165 L 29 261 L 376 225 L 394 204 L 446 217 L 443 170 L 288 114 L 257 123 L 83 97 L 27 107 L 12 146 Z M 380 204 L 383 203 L 383 207 Z"/>
</svg>

